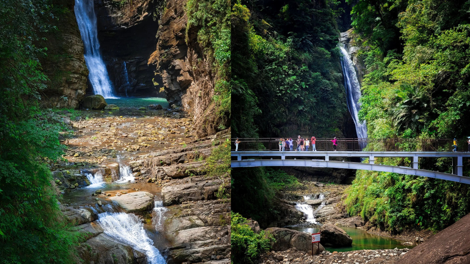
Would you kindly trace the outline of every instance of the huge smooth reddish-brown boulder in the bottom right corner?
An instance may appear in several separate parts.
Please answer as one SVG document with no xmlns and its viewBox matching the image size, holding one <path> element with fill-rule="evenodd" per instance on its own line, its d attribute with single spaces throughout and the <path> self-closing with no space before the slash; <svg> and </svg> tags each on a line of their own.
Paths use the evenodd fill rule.
<svg viewBox="0 0 470 264">
<path fill-rule="evenodd" d="M 470 263 L 470 214 L 412 248 L 396 264 Z"/>
</svg>

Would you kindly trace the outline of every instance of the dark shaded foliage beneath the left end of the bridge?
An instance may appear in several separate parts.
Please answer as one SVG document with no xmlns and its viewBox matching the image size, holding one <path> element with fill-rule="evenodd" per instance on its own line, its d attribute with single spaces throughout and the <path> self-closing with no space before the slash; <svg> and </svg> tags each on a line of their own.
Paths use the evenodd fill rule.
<svg viewBox="0 0 470 264">
<path fill-rule="evenodd" d="M 232 170 L 232 211 L 257 220 L 261 226 L 280 217 L 276 192 L 300 185 L 295 176 L 269 167 Z"/>
</svg>

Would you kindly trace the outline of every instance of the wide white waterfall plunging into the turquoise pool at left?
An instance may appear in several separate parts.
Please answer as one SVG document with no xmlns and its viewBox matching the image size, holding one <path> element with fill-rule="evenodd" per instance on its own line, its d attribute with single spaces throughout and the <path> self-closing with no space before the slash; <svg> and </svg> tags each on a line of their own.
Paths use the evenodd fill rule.
<svg viewBox="0 0 470 264">
<path fill-rule="evenodd" d="M 85 47 L 85 63 L 90 71 L 88 78 L 94 94 L 104 98 L 117 98 L 114 95 L 108 71 L 99 52 L 98 29 L 93 0 L 75 0 L 75 16 Z"/>
</svg>

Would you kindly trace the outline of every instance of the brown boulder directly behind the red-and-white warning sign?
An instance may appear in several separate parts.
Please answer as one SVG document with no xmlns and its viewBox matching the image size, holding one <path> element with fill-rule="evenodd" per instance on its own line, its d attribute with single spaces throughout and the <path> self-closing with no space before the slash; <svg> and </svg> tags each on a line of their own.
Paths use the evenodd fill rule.
<svg viewBox="0 0 470 264">
<path fill-rule="evenodd" d="M 265 231 L 276 239 L 275 242 L 271 242 L 271 249 L 274 251 L 284 251 L 293 247 L 305 252 L 312 250 L 312 236 L 307 233 L 280 227 L 270 227 Z M 323 250 L 325 248 L 322 244 L 313 246 L 313 254 L 320 254 Z"/>
</svg>

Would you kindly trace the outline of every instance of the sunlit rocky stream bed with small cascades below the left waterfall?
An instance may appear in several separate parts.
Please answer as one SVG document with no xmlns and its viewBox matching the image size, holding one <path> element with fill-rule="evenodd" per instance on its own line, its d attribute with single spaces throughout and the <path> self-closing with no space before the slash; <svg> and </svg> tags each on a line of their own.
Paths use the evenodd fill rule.
<svg viewBox="0 0 470 264">
<path fill-rule="evenodd" d="M 231 201 L 216 196 L 230 182 L 204 171 L 230 131 L 196 138 L 177 109 L 59 114 L 71 132 L 66 160 L 51 167 L 84 263 L 230 262 Z"/>
</svg>

